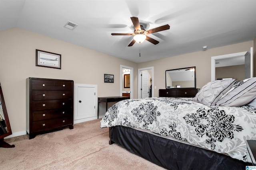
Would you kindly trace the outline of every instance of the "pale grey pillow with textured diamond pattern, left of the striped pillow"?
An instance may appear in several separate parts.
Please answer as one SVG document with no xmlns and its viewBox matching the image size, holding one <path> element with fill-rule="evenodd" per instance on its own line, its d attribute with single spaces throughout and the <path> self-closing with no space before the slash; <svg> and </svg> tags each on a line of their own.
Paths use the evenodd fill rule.
<svg viewBox="0 0 256 170">
<path fill-rule="evenodd" d="M 235 79 L 208 82 L 196 94 L 194 100 L 206 106 L 215 106 L 221 96 L 230 90 L 234 82 Z"/>
</svg>

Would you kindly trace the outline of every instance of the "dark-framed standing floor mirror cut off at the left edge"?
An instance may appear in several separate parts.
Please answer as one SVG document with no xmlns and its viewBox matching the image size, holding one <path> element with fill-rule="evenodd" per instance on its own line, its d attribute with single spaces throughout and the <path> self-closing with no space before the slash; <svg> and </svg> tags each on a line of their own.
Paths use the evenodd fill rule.
<svg viewBox="0 0 256 170">
<path fill-rule="evenodd" d="M 9 145 L 4 141 L 4 137 L 12 135 L 12 129 L 10 126 L 4 96 L 2 92 L 2 86 L 0 84 L 0 147 L 2 148 L 13 148 L 14 145 Z"/>
</svg>

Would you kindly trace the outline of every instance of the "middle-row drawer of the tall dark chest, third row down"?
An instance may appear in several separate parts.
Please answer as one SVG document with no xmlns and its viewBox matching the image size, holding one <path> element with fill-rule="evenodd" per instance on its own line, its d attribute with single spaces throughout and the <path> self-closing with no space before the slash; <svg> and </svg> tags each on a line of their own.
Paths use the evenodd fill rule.
<svg viewBox="0 0 256 170">
<path fill-rule="evenodd" d="M 72 99 L 35 100 L 32 101 L 32 111 L 72 107 Z"/>
</svg>

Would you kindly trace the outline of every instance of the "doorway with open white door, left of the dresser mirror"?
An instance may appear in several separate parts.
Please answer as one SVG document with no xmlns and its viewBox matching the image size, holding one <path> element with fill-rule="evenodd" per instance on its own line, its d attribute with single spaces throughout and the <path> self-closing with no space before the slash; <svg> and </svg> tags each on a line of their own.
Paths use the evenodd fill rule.
<svg viewBox="0 0 256 170">
<path fill-rule="evenodd" d="M 154 97 L 154 67 L 138 69 L 138 99 Z"/>
</svg>

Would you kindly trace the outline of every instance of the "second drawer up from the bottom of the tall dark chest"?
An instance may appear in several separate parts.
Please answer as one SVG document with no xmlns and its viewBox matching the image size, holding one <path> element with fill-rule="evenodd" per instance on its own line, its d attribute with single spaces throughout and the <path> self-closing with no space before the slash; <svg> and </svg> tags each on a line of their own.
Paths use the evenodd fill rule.
<svg viewBox="0 0 256 170">
<path fill-rule="evenodd" d="M 32 114 L 33 114 L 32 121 L 70 116 L 72 115 L 72 109 L 73 108 L 70 107 L 70 108 L 63 108 L 63 109 L 32 111 Z"/>
</svg>

